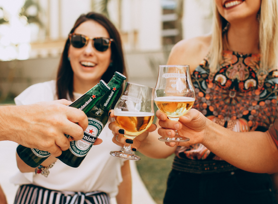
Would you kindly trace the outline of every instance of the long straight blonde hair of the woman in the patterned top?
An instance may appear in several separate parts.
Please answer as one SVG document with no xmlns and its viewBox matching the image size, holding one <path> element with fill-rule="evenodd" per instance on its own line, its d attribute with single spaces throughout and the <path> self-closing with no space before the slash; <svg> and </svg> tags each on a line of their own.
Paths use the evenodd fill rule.
<svg viewBox="0 0 278 204">
<path fill-rule="evenodd" d="M 277 69 L 278 62 L 278 4 L 277 0 L 261 0 L 259 11 L 260 67 L 264 70 Z M 211 72 L 216 72 L 222 59 L 222 29 L 227 21 L 220 15 L 213 1 L 213 28 L 210 45 Z"/>
</svg>

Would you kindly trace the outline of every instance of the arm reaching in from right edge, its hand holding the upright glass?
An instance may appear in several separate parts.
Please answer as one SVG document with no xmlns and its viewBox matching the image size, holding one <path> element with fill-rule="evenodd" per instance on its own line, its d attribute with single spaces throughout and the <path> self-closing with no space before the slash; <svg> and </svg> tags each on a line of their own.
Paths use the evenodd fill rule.
<svg viewBox="0 0 278 204">
<path fill-rule="evenodd" d="M 276 126 L 267 132 L 234 132 L 207 119 L 202 113 L 191 109 L 179 118 L 179 122 L 166 119 L 160 111 L 156 113 L 161 127 L 161 136 L 174 136 L 174 130 L 190 138 L 188 142 L 167 143 L 169 146 L 189 146 L 197 143 L 205 145 L 210 151 L 223 160 L 245 171 L 256 173 L 273 173 L 278 171 L 278 149 L 272 137 L 278 137 Z M 178 127 L 176 125 L 178 124 Z M 271 135 L 270 132 L 276 132 Z"/>
</svg>

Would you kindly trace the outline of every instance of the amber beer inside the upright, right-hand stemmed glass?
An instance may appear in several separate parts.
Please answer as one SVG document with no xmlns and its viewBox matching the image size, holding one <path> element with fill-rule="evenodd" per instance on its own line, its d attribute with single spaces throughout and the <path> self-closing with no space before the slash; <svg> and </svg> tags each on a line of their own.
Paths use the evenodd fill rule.
<svg viewBox="0 0 278 204">
<path fill-rule="evenodd" d="M 155 99 L 159 110 L 169 118 L 178 118 L 186 114 L 193 106 L 195 99 L 183 96 L 164 96 Z"/>
</svg>

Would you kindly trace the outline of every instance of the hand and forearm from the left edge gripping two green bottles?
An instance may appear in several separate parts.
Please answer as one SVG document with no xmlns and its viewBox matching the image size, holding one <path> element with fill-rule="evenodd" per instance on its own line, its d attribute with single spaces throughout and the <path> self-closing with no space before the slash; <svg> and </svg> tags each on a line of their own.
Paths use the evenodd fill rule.
<svg viewBox="0 0 278 204">
<path fill-rule="evenodd" d="M 66 106 L 70 103 L 67 100 L 57 100 L 0 107 L 0 141 L 14 141 L 59 156 L 62 150 L 69 148 L 69 140 L 64 134 L 79 140 L 83 137 L 83 130 L 88 126 L 84 112 Z"/>
</svg>

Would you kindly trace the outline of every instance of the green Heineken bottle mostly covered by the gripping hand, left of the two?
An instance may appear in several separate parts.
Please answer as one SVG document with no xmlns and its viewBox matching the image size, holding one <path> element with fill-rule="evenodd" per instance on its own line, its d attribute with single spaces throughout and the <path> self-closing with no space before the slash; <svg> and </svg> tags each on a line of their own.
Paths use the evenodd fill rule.
<svg viewBox="0 0 278 204">
<path fill-rule="evenodd" d="M 72 102 L 69 106 L 78 108 L 84 111 L 87 114 L 92 107 L 96 104 L 98 100 L 100 100 L 101 96 L 103 96 L 106 92 L 110 90 L 109 86 L 103 81 L 100 80 L 100 83 L 95 85 L 92 89 L 82 95 L 80 98 Z M 65 134 L 67 138 L 70 135 Z M 45 161 L 51 154 L 46 151 L 42 151 L 39 149 L 28 148 L 22 145 L 18 145 L 16 149 L 18 156 L 28 164 L 30 167 L 37 167 L 43 161 Z"/>
</svg>

